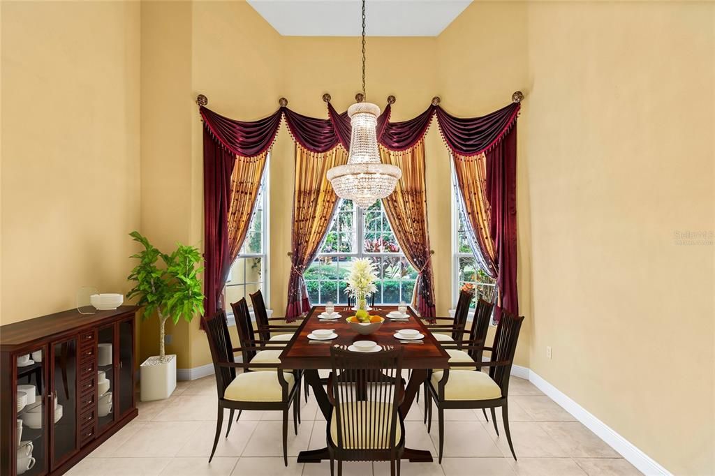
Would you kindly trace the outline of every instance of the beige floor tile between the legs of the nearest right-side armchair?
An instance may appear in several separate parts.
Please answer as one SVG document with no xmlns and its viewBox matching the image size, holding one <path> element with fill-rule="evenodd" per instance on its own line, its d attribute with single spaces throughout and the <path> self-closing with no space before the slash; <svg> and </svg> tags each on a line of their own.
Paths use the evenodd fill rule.
<svg viewBox="0 0 715 476">
<path fill-rule="evenodd" d="M 480 422 L 463 424 L 445 421 L 445 457 L 499 457 L 501 450 L 493 442 Z M 433 422 L 430 433 L 435 450 L 439 449 L 439 428 Z"/>
</svg>

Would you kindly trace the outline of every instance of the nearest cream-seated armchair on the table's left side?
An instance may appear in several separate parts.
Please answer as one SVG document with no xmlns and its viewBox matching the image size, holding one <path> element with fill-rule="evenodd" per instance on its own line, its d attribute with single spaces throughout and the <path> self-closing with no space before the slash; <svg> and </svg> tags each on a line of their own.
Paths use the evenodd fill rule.
<svg viewBox="0 0 715 476">
<path fill-rule="evenodd" d="M 236 316 L 243 319 L 245 316 Z M 233 348 L 228 331 L 226 313 L 220 309 L 211 317 L 202 317 L 204 329 L 209 340 L 211 359 L 216 375 L 218 394 L 218 417 L 214 445 L 209 455 L 209 462 L 214 457 L 223 425 L 224 409 L 230 410 L 226 437 L 231 431 L 235 410 L 279 410 L 283 412 L 283 463 L 288 465 L 288 410 L 293 405 L 295 431 L 296 395 L 300 394 L 300 377 L 297 372 L 281 370 L 275 363 L 235 362 L 235 352 L 255 351 L 255 347 Z M 237 369 L 244 370 L 237 373 Z M 264 372 L 250 372 L 263 370 Z"/>
</svg>

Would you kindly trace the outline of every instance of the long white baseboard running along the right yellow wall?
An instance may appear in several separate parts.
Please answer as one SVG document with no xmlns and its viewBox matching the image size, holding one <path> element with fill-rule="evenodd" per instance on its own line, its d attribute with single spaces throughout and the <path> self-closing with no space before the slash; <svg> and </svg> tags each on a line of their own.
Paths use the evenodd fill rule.
<svg viewBox="0 0 715 476">
<path fill-rule="evenodd" d="M 512 367 L 511 374 L 517 375 L 514 372 L 514 367 L 517 366 L 514 365 Z M 526 374 L 528 375 L 526 378 L 528 378 L 529 382 L 533 383 L 533 385 L 536 385 L 538 390 L 541 390 L 546 394 L 546 396 L 551 398 L 551 400 L 556 402 L 558 405 L 561 405 L 563 410 L 571 413 L 576 420 L 583 423 L 588 430 L 591 430 L 594 434 L 596 434 L 596 436 L 606 442 L 608 446 L 612 447 L 613 450 L 620 453 L 623 458 L 630 462 L 631 465 L 638 468 L 639 471 L 643 472 L 645 475 L 672 476 L 671 472 L 659 465 L 656 460 L 639 450 L 636 445 L 633 445 L 633 443 L 619 435 L 615 430 L 613 430 L 613 428 L 606 425 L 606 423 L 598 420 L 598 418 L 593 416 L 591 412 L 588 412 L 588 410 L 581 407 L 581 405 L 578 405 L 578 403 L 571 400 L 571 397 L 568 397 L 568 395 L 561 392 L 561 390 L 558 390 L 558 388 L 551 385 L 535 372 L 527 369 L 526 367 L 519 368 L 526 371 Z M 520 375 L 517 376 L 521 377 Z"/>
</svg>

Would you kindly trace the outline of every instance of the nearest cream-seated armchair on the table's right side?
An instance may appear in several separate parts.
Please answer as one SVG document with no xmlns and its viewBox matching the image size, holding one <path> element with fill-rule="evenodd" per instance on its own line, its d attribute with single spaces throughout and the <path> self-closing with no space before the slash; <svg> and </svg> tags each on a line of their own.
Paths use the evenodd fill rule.
<svg viewBox="0 0 715 476">
<path fill-rule="evenodd" d="M 490 409 L 494 430 L 499 435 L 495 408 L 501 407 L 506 440 L 511 455 L 516 460 L 509 432 L 508 391 L 509 375 L 523 319 L 523 316 L 516 316 L 504 310 L 501 312 L 488 362 L 450 362 L 448 369 L 432 372 L 428 380 L 428 392 L 429 400 L 434 400 L 438 411 L 440 464 L 444 450 L 444 411 L 455 408 Z M 477 370 L 471 370 L 475 366 Z M 480 367 L 489 367 L 489 372 L 482 372 Z M 432 405 L 427 408 L 429 432 L 432 424 Z"/>
</svg>

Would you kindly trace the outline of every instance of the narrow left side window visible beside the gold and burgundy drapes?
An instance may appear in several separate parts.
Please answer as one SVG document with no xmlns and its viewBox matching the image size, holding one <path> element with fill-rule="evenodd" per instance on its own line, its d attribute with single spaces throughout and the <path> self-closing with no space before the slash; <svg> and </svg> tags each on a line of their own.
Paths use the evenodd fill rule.
<svg viewBox="0 0 715 476">
<path fill-rule="evenodd" d="M 245 297 L 250 303 L 248 294 L 260 289 L 266 305 L 268 304 L 267 283 L 267 253 L 268 244 L 268 160 L 263 170 L 261 187 L 256 197 L 256 205 L 248 227 L 243 246 L 233 262 L 226 287 L 224 289 L 224 309 L 230 311 L 232 302 Z"/>
</svg>

